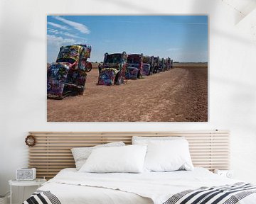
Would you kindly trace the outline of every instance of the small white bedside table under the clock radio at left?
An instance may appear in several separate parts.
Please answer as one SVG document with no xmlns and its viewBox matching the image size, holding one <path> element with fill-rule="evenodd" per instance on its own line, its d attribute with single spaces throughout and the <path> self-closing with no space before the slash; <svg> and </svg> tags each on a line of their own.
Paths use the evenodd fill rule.
<svg viewBox="0 0 256 204">
<path fill-rule="evenodd" d="M 10 185 L 10 191 L 12 186 L 23 186 L 26 188 L 26 186 L 38 186 L 38 188 L 46 182 L 46 179 L 35 179 L 33 181 L 17 181 L 17 180 L 10 180 L 9 185 Z M 12 194 L 12 192 L 11 192 Z M 22 193 L 22 202 L 24 201 L 24 189 Z M 10 196 L 10 204 L 11 204 L 11 196 Z"/>
</svg>

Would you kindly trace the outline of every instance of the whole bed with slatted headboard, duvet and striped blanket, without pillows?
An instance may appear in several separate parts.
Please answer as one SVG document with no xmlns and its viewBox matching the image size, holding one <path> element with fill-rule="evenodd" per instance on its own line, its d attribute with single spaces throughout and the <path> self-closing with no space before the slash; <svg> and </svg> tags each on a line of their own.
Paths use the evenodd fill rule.
<svg viewBox="0 0 256 204">
<path fill-rule="evenodd" d="M 228 132 L 97 133 L 100 136 L 93 136 L 92 134 L 96 133 L 31 132 L 31 135 L 37 139 L 37 145 L 30 148 L 30 164 L 33 164 L 33 167 L 37 164 L 37 168 L 39 166 L 38 176 L 46 175 L 48 179 L 50 177 L 53 179 L 38 188 L 31 198 L 28 198 L 24 203 L 256 203 L 256 186 L 227 179 L 212 172 L 214 169 L 228 169 L 229 163 L 226 159 L 229 157 Z M 132 135 L 185 137 L 189 142 L 189 151 L 195 168 L 192 171 L 180 169 L 167 172 L 143 171 L 140 174 L 87 173 L 75 168 L 65 168 L 75 167 L 75 162 L 72 159 L 67 159 L 70 152 L 65 149 L 74 146 L 90 147 L 93 146 L 91 142 L 96 141 L 98 143 L 96 142 L 94 145 L 116 141 L 124 141 L 130 145 Z M 64 139 L 58 140 L 60 138 Z M 64 142 L 71 140 L 69 138 L 73 139 L 71 144 Z M 78 141 L 80 145 L 74 145 L 78 144 L 75 143 Z M 55 147 L 58 147 L 57 150 L 53 150 L 53 148 L 56 149 Z M 68 153 L 61 152 L 64 151 L 63 149 Z M 42 157 L 40 152 L 43 150 L 43 154 L 48 154 L 48 157 L 46 155 Z M 57 158 L 58 153 L 53 154 L 53 151 L 60 151 L 59 154 L 64 156 Z M 38 153 L 37 157 L 35 156 L 36 153 Z M 45 162 L 46 159 L 48 162 Z M 73 166 L 65 166 L 70 165 L 70 161 L 73 162 Z M 40 171 L 41 163 L 44 165 L 41 167 L 42 171 Z M 57 167 L 53 166 L 62 170 L 55 170 Z M 59 171 L 58 174 L 55 175 L 55 171 Z"/>
</svg>

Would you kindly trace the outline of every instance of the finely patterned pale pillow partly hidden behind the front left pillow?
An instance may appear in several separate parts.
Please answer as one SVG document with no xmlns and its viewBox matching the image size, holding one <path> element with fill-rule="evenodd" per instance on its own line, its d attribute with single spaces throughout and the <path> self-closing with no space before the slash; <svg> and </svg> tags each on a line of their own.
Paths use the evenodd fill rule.
<svg viewBox="0 0 256 204">
<path fill-rule="evenodd" d="M 121 147 L 121 146 L 125 146 L 124 142 L 111 142 L 104 145 L 97 145 L 94 147 L 72 148 L 71 152 L 75 160 L 76 169 L 79 170 L 82 167 L 82 165 L 85 164 L 86 159 L 90 156 L 93 149 L 96 149 L 99 147 Z"/>
</svg>

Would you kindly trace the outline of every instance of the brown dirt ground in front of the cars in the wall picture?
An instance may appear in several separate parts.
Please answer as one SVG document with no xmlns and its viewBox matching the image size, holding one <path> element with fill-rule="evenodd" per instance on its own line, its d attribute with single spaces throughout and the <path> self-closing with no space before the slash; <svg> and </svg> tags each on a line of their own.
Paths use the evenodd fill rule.
<svg viewBox="0 0 256 204">
<path fill-rule="evenodd" d="M 182 67 L 119 86 L 97 86 L 87 74 L 83 96 L 47 100 L 48 121 L 171 122 L 208 120 L 207 68 Z"/>
</svg>

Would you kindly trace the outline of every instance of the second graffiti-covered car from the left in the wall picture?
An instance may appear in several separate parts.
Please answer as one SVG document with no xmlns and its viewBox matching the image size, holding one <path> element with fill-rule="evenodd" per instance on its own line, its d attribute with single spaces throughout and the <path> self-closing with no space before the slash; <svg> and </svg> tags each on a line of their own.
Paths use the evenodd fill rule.
<svg viewBox="0 0 256 204">
<path fill-rule="evenodd" d="M 114 84 L 124 84 L 125 71 L 127 68 L 126 52 L 105 53 L 101 69 L 99 69 L 99 85 L 111 86 Z"/>
</svg>

